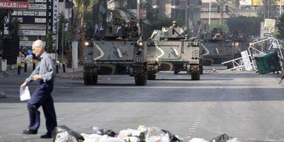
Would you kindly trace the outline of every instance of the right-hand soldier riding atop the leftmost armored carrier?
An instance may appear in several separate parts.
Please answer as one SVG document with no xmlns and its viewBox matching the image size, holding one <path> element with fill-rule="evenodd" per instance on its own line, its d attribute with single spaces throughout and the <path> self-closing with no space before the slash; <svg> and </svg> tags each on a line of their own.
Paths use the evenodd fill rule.
<svg viewBox="0 0 284 142">
<path fill-rule="evenodd" d="M 141 27 L 138 23 L 135 22 L 135 19 L 133 17 L 130 18 L 130 21 L 127 25 L 128 30 L 128 38 L 137 38 L 141 36 Z"/>
</svg>

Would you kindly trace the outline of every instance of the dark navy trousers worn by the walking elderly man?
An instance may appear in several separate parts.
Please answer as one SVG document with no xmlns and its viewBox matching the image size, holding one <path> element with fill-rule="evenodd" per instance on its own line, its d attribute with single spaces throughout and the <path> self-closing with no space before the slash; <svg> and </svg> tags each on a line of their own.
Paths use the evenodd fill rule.
<svg viewBox="0 0 284 142">
<path fill-rule="evenodd" d="M 27 102 L 27 110 L 29 110 L 29 129 L 37 131 L 40 126 L 40 112 L 38 108 L 43 107 L 45 114 L 45 124 L 47 134 L 51 134 L 52 130 L 57 126 L 56 113 L 54 110 L 54 99 L 51 97 L 51 92 L 54 89 L 54 83 L 40 82 L 38 88 Z"/>
</svg>

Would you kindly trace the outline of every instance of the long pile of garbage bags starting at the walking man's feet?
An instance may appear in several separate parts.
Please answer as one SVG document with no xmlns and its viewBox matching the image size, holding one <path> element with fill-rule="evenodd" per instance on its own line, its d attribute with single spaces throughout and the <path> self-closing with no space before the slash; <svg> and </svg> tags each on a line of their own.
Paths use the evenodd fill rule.
<svg viewBox="0 0 284 142">
<path fill-rule="evenodd" d="M 139 126 L 119 133 L 92 127 L 93 134 L 79 134 L 67 126 L 57 126 L 52 132 L 54 142 L 183 142 L 183 139 L 167 130 Z"/>
</svg>

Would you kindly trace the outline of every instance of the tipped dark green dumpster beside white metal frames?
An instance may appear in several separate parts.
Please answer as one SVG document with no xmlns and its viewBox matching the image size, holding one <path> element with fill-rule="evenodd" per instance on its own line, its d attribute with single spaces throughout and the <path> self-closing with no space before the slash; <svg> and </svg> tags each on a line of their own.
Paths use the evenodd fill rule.
<svg viewBox="0 0 284 142">
<path fill-rule="evenodd" d="M 257 70 L 259 74 L 281 71 L 281 66 L 276 51 L 271 51 L 268 52 L 268 54 L 256 56 L 255 62 L 257 63 Z"/>
</svg>

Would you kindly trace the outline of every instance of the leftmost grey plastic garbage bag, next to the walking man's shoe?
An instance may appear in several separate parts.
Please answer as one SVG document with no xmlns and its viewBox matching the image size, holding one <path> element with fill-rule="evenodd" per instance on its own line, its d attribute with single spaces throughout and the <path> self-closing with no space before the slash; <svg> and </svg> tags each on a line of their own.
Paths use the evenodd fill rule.
<svg viewBox="0 0 284 142">
<path fill-rule="evenodd" d="M 56 126 L 56 128 L 54 128 L 52 132 L 52 137 L 54 138 L 54 142 L 65 142 L 63 141 L 64 139 L 62 139 L 62 137 L 67 137 L 67 139 L 69 139 L 69 135 L 74 137 L 76 141 L 68 141 L 68 142 L 84 141 L 84 137 L 82 137 L 78 132 L 71 130 L 67 126 Z M 61 139 L 62 141 L 60 141 Z"/>
</svg>

